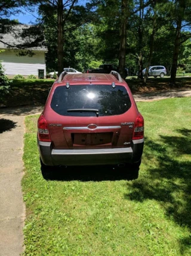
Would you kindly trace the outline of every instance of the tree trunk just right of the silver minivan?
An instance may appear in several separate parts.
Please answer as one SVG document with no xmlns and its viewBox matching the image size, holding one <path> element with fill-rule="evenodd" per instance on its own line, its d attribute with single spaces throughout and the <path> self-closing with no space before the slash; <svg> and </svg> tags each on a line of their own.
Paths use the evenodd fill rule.
<svg viewBox="0 0 191 256">
<path fill-rule="evenodd" d="M 180 8 L 178 10 L 178 19 L 177 19 L 177 28 L 175 31 L 175 42 L 174 42 L 174 51 L 172 57 L 172 69 L 171 69 L 171 85 L 175 85 L 175 77 L 177 74 L 177 63 L 178 63 L 178 55 L 180 52 L 180 37 L 181 37 L 181 22 L 184 18 L 184 11 L 186 8 L 185 0 L 179 1 Z"/>
</svg>

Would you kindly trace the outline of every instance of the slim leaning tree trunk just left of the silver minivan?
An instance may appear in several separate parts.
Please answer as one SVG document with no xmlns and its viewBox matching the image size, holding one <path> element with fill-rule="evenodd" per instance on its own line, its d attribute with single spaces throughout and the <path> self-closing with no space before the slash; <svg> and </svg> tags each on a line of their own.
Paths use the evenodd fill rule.
<svg viewBox="0 0 191 256">
<path fill-rule="evenodd" d="M 150 52 L 149 52 L 149 60 L 147 62 L 146 72 L 143 77 L 143 85 L 146 85 L 147 83 L 147 77 L 149 73 L 149 67 L 152 61 L 153 56 L 153 49 L 154 49 L 154 43 L 155 43 L 155 34 L 156 34 L 156 11 L 154 10 L 154 16 L 153 16 L 153 32 L 150 36 Z"/>
</svg>

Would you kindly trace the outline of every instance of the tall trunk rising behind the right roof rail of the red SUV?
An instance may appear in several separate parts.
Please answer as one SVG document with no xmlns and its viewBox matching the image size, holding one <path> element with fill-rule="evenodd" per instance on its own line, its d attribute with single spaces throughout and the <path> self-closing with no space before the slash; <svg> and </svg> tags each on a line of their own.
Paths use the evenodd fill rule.
<svg viewBox="0 0 191 256">
<path fill-rule="evenodd" d="M 127 3 L 128 0 L 122 0 L 121 5 L 121 30 L 119 44 L 119 73 L 125 79 L 125 55 L 126 55 L 126 39 L 127 39 Z"/>
</svg>

